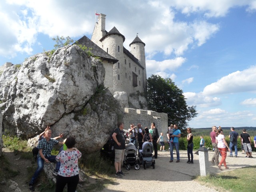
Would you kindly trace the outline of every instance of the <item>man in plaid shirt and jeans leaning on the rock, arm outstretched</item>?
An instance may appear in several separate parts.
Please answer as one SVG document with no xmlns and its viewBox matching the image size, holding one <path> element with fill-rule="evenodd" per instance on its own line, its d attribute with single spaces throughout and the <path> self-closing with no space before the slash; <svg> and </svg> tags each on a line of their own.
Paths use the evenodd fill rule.
<svg viewBox="0 0 256 192">
<path fill-rule="evenodd" d="M 32 179 L 29 182 L 29 190 L 34 191 L 34 183 L 36 181 L 36 178 L 38 178 L 38 175 L 44 168 L 44 162 L 56 162 L 56 155 L 51 155 L 52 148 L 55 144 L 63 144 L 63 142 L 59 142 L 52 137 L 52 131 L 50 129 L 46 130 L 44 132 L 45 137 L 39 141 L 38 143 L 38 156 L 37 156 L 37 168 L 36 172 L 32 176 Z M 56 164 L 56 169 L 60 166 L 58 163 Z"/>
</svg>

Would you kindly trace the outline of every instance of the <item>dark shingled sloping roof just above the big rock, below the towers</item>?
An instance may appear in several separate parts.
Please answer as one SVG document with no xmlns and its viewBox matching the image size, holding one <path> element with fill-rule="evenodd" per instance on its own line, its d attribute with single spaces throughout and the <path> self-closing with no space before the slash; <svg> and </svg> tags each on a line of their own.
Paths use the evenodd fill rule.
<svg viewBox="0 0 256 192">
<path fill-rule="evenodd" d="M 90 51 L 94 56 L 98 56 L 100 58 L 103 58 L 104 60 L 111 61 L 114 64 L 118 62 L 118 60 L 114 57 L 112 57 L 110 54 L 108 54 L 106 51 L 104 51 L 102 48 L 100 48 L 98 45 L 96 45 L 94 42 L 92 42 L 88 37 L 83 36 L 78 41 L 78 44 L 84 45 L 88 48 L 92 48 Z M 74 43 L 76 44 L 76 43 Z"/>
</svg>

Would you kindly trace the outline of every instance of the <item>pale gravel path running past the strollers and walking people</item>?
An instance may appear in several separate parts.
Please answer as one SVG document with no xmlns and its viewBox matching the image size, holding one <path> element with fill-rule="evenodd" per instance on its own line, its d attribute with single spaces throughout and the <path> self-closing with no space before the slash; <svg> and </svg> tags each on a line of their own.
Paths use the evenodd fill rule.
<svg viewBox="0 0 256 192">
<path fill-rule="evenodd" d="M 140 170 L 135 170 L 132 167 L 128 171 L 126 168 L 123 168 L 122 171 L 126 175 L 122 178 L 116 178 L 114 185 L 108 185 L 102 192 L 216 192 L 215 189 L 200 185 L 192 180 L 192 176 L 200 175 L 198 155 L 194 154 L 194 164 L 187 164 L 186 151 L 180 151 L 179 163 L 175 162 L 176 155 L 174 155 L 174 162 L 170 163 L 169 152 L 158 152 L 158 154 L 155 169 L 148 167 L 144 170 L 143 166 L 141 166 Z M 210 159 L 212 155 L 213 152 L 209 151 L 210 172 L 221 172 L 217 166 L 211 164 Z M 256 154 L 254 153 L 253 155 L 255 156 Z M 238 153 L 238 158 L 227 157 L 226 162 L 230 170 L 233 170 L 235 168 L 255 165 L 256 158 L 244 158 L 244 155 Z M 113 177 L 115 178 L 114 175 Z"/>
</svg>

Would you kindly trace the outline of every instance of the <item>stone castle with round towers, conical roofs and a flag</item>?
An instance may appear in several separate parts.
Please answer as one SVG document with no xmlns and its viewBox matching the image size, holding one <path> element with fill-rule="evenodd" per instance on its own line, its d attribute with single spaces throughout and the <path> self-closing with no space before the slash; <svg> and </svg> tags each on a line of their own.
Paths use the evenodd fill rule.
<svg viewBox="0 0 256 192">
<path fill-rule="evenodd" d="M 130 52 L 124 48 L 125 40 L 116 27 L 105 29 L 106 15 L 100 14 L 92 38 L 83 36 L 79 44 L 91 48 L 94 56 L 102 59 L 108 87 L 122 107 L 147 109 L 145 43 L 138 36 L 130 43 Z M 136 96 L 136 98 L 134 98 Z"/>
</svg>

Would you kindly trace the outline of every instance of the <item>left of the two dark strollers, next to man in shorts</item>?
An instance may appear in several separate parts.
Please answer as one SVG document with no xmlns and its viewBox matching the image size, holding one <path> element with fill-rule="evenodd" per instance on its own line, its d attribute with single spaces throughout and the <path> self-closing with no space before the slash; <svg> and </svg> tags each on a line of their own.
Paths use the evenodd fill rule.
<svg viewBox="0 0 256 192">
<path fill-rule="evenodd" d="M 127 170 L 130 170 L 131 166 L 136 170 L 140 169 L 140 160 L 137 158 L 137 149 L 133 143 L 128 143 L 125 147 L 123 166 L 126 166 Z"/>
</svg>

